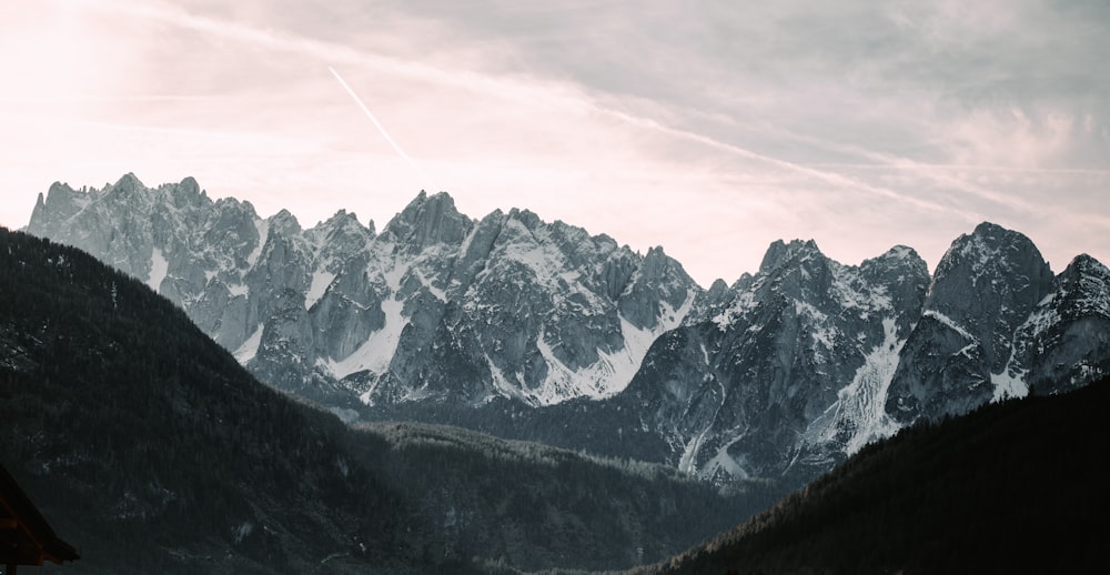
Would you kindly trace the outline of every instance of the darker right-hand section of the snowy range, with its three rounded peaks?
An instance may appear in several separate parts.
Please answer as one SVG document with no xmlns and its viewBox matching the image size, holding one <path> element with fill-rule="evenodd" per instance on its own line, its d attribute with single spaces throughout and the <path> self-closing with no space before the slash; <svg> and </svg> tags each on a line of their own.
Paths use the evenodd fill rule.
<svg viewBox="0 0 1110 575">
<path fill-rule="evenodd" d="M 920 417 L 1110 373 L 1110 271 L 1080 255 L 1053 278 L 990 223 L 932 278 L 905 246 L 855 268 L 776 242 L 756 275 L 714 291 L 625 392 L 705 477 L 810 477 Z"/>
</svg>

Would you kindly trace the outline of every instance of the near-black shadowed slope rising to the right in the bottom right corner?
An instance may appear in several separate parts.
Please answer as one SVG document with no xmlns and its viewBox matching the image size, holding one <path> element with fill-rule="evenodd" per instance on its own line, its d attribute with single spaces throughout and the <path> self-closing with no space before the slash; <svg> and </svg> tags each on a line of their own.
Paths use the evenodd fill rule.
<svg viewBox="0 0 1110 575">
<path fill-rule="evenodd" d="M 1110 380 L 870 445 L 642 574 L 1106 573 Z"/>
</svg>

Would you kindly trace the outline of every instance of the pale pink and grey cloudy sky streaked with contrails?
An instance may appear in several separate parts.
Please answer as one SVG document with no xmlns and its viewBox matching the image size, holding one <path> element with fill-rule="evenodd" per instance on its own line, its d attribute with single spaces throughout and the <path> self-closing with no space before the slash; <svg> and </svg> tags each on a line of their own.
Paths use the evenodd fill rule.
<svg viewBox="0 0 1110 575">
<path fill-rule="evenodd" d="M 1103 0 L 2 1 L 0 224 L 134 172 L 306 226 L 445 190 L 705 285 L 985 220 L 1059 272 L 1110 263 L 1108 54 Z"/>
</svg>

